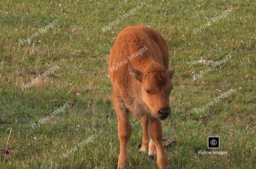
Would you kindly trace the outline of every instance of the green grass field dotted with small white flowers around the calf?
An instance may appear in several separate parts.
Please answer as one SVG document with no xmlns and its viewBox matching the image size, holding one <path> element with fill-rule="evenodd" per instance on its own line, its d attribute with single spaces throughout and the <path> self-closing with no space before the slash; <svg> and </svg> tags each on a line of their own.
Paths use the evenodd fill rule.
<svg viewBox="0 0 256 169">
<path fill-rule="evenodd" d="M 117 167 L 109 53 L 117 34 L 138 24 L 163 35 L 176 70 L 172 115 L 162 121 L 164 136 L 178 143 L 165 149 L 170 167 L 255 168 L 255 5 L 245 0 L 0 1 L 0 149 L 12 150 L 2 151 L 0 168 Z M 225 63 L 193 78 L 211 67 L 194 61 L 218 62 L 227 55 Z M 71 108 L 40 122 L 68 102 Z M 131 123 L 131 168 L 158 168 L 138 152 L 140 120 Z M 220 136 L 220 149 L 214 151 L 227 154 L 198 154 L 211 150 L 208 136 Z"/>
</svg>

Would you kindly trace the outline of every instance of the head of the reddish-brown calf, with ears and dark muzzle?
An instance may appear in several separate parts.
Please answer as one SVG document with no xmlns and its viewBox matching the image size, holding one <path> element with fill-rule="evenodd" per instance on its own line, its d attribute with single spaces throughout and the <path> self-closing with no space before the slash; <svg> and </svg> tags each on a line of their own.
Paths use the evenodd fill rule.
<svg viewBox="0 0 256 169">
<path fill-rule="evenodd" d="M 174 68 L 165 70 L 161 66 L 151 66 L 142 73 L 128 66 L 129 74 L 141 82 L 144 103 L 152 110 L 152 116 L 164 120 L 170 113 L 169 95 L 173 89 Z"/>
</svg>

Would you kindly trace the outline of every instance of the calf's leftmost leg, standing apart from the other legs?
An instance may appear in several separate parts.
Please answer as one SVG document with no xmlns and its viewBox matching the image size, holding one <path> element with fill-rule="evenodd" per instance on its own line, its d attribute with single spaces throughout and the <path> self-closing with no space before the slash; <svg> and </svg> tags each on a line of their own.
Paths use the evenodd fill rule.
<svg viewBox="0 0 256 169">
<path fill-rule="evenodd" d="M 120 153 L 117 168 L 128 168 L 130 166 L 128 158 L 128 142 L 132 135 L 132 125 L 129 121 L 128 109 L 125 107 L 120 96 L 113 97 L 113 103 L 118 118 L 118 136 L 120 141 Z"/>
</svg>

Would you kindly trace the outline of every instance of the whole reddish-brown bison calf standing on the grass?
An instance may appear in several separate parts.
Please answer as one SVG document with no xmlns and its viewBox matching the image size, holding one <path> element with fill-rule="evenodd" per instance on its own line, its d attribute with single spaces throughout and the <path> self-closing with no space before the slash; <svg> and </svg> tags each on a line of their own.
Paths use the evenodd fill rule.
<svg viewBox="0 0 256 169">
<path fill-rule="evenodd" d="M 160 122 L 170 112 L 169 94 L 173 88 L 170 79 L 174 69 L 168 70 L 168 64 L 166 42 L 155 30 L 136 25 L 126 27 L 118 34 L 109 60 L 120 140 L 118 168 L 130 165 L 127 155 L 128 141 L 132 135 L 129 111 L 142 121 L 140 151 L 148 150 L 149 157 L 157 155 L 159 168 L 169 168 L 163 150 Z"/>
</svg>

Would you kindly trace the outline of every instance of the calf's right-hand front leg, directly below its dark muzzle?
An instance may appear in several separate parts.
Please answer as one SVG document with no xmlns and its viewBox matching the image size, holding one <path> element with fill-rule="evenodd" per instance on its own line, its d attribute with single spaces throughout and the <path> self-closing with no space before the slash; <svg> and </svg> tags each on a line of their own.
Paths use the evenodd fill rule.
<svg viewBox="0 0 256 169">
<path fill-rule="evenodd" d="M 169 163 L 163 150 L 163 133 L 160 120 L 151 117 L 149 127 L 150 137 L 156 146 L 158 167 L 160 169 L 169 169 Z"/>
</svg>

